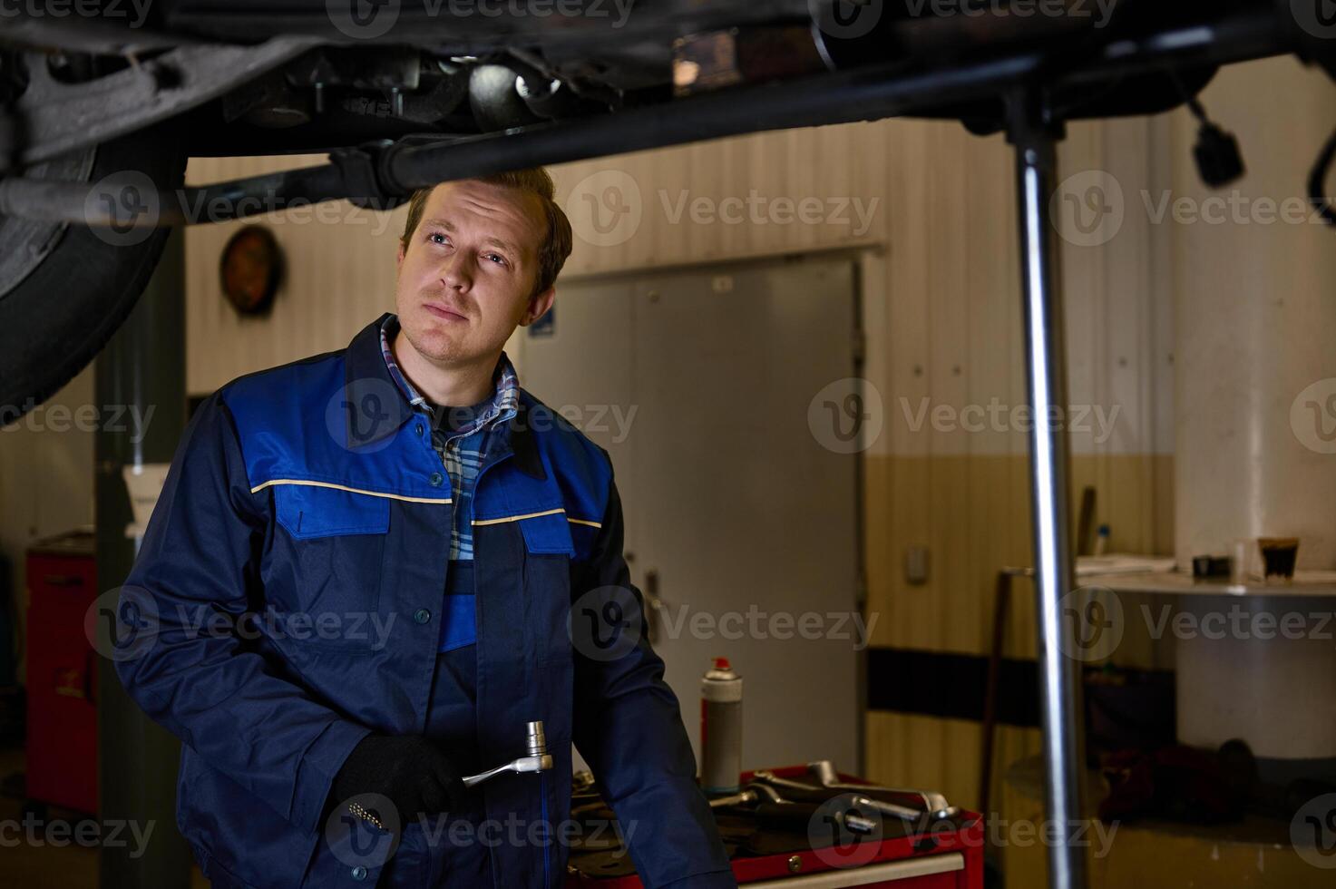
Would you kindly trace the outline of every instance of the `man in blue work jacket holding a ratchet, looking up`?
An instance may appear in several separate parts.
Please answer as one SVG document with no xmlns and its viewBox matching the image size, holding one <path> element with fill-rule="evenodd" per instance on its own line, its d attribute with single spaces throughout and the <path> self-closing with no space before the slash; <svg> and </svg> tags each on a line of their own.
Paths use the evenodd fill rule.
<svg viewBox="0 0 1336 889">
<path fill-rule="evenodd" d="M 183 742 L 215 885 L 560 886 L 572 741 L 647 886 L 736 885 L 636 632 L 608 455 L 502 350 L 570 246 L 541 168 L 424 190 L 397 314 L 191 420 L 120 600 L 155 632 L 116 666 Z M 573 602 L 604 626 L 572 634 Z M 464 787 L 534 721 L 550 770 Z"/>
</svg>

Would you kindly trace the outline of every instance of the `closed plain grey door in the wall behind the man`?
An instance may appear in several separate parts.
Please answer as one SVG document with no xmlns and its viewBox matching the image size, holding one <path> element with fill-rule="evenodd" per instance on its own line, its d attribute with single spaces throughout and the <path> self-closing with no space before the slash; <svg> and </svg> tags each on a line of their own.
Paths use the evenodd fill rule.
<svg viewBox="0 0 1336 889">
<path fill-rule="evenodd" d="M 699 749 L 700 676 L 744 680 L 743 766 L 856 767 L 858 459 L 808 405 L 855 376 L 848 261 L 558 286 L 524 385 L 608 448 L 632 580 Z"/>
</svg>

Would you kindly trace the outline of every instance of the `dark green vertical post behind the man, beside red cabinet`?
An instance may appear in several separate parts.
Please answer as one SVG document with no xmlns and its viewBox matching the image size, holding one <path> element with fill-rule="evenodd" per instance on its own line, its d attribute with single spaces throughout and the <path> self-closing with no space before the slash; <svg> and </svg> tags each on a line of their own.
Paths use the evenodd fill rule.
<svg viewBox="0 0 1336 889">
<path fill-rule="evenodd" d="M 98 588 L 120 587 L 135 561 L 139 539 L 123 467 L 171 463 L 186 428 L 184 235 L 172 231 L 158 270 L 139 303 L 98 356 L 98 404 L 115 405 L 120 421 L 98 430 Z M 154 723 L 120 684 L 114 664 L 98 668 L 99 817 L 104 829 L 126 825 L 122 837 L 152 829 L 143 849 L 128 841 L 103 845 L 102 889 L 190 886 L 190 849 L 176 830 L 176 767 L 180 742 Z"/>
</svg>

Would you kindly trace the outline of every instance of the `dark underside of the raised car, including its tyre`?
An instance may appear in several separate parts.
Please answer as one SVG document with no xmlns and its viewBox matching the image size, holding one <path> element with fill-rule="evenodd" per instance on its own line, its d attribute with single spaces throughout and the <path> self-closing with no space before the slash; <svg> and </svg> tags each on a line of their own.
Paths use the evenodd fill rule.
<svg viewBox="0 0 1336 889">
<path fill-rule="evenodd" d="M 1030 104 L 1055 124 L 1190 104 L 1202 174 L 1228 180 L 1242 162 L 1197 94 L 1220 66 L 1249 59 L 1296 53 L 1336 71 L 1336 25 L 1321 9 L 4 0 L 0 408 L 20 416 L 91 361 L 168 226 L 337 199 L 390 210 L 449 179 L 764 130 L 923 116 L 987 135 L 1013 130 Z M 183 187 L 190 156 L 295 152 L 329 162 Z"/>
</svg>

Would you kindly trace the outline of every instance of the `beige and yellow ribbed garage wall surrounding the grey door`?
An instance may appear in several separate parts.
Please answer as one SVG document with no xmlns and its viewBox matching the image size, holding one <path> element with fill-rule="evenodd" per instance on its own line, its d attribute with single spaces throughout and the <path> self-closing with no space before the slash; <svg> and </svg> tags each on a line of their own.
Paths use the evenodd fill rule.
<svg viewBox="0 0 1336 889">
<path fill-rule="evenodd" d="M 1248 66 L 1229 80 L 1234 90 L 1279 82 L 1331 90 L 1289 60 Z M 1229 102 L 1213 88 L 1206 104 L 1228 126 Z M 1150 221 L 1141 193 L 1185 187 L 1194 174 L 1174 167 L 1193 136 L 1190 118 L 1174 114 L 1074 124 L 1062 147 L 1063 175 L 1102 170 L 1124 190 L 1118 235 L 1100 246 L 1067 243 L 1063 257 L 1070 397 L 1090 412 L 1090 429 L 1073 437 L 1073 485 L 1096 487 L 1113 551 L 1173 549 L 1176 247 L 1169 226 Z M 1316 148 L 1316 139 L 1292 147 L 1296 188 Z M 190 175 L 212 180 L 270 168 L 265 160 L 198 160 Z M 879 614 L 874 644 L 985 655 L 995 572 L 1030 561 L 1025 433 L 1006 424 L 934 428 L 931 412 L 963 420 L 971 405 L 1006 412 L 1025 404 L 1011 154 L 1003 140 L 969 136 L 953 123 L 879 122 L 619 155 L 553 172 L 577 234 L 566 279 L 822 250 L 860 257 L 866 377 L 883 404 L 883 430 L 864 460 L 868 610 Z M 190 233 L 192 393 L 339 348 L 393 306 L 402 210 L 386 223 L 338 206 L 350 214 L 345 225 L 274 223 L 293 274 L 269 321 L 236 320 L 218 293 L 214 266 L 231 226 Z M 1217 261 L 1246 262 L 1228 254 Z M 557 305 L 560 318 L 560 295 Z M 522 352 L 518 340 L 512 354 L 521 376 Z M 910 544 L 930 547 L 926 584 L 903 580 Z M 1014 603 L 1005 654 L 1033 658 L 1027 584 Z M 1035 730 L 1003 727 L 997 773 L 1038 749 Z M 934 786 L 971 805 L 978 751 L 977 722 L 868 714 L 872 778 Z M 1001 795 L 995 786 L 993 798 Z"/>
</svg>

